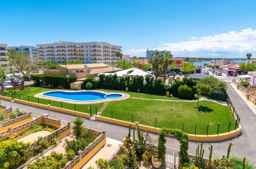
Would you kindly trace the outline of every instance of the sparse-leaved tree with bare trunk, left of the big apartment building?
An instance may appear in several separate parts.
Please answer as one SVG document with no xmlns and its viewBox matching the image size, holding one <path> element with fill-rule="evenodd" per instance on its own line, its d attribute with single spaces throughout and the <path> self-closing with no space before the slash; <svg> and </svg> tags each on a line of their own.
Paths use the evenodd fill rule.
<svg viewBox="0 0 256 169">
<path fill-rule="evenodd" d="M 25 89 L 25 80 L 29 75 L 36 74 L 38 72 L 38 61 L 31 60 L 27 52 L 16 52 L 14 50 L 8 50 L 10 73 L 14 77 L 22 81 L 22 89 Z M 14 71 L 18 70 L 22 73 L 22 76 L 17 76 Z"/>
</svg>

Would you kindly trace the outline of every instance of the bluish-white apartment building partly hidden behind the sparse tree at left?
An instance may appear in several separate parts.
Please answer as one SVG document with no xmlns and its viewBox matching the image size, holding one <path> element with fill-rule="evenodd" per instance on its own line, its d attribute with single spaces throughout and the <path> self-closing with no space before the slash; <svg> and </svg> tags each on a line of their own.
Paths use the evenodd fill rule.
<svg viewBox="0 0 256 169">
<path fill-rule="evenodd" d="M 37 59 L 38 57 L 38 48 L 37 47 L 32 47 L 32 46 L 19 46 L 19 47 L 7 47 L 7 49 L 12 49 L 14 51 L 17 51 L 17 52 L 27 52 L 29 55 L 30 55 L 30 59 L 33 60 L 33 59 Z"/>
</svg>

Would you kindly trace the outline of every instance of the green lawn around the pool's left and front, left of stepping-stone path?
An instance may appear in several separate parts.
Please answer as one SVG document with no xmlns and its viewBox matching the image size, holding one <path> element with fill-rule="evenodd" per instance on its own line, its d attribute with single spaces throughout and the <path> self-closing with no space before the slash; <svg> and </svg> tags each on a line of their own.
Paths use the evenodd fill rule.
<svg viewBox="0 0 256 169">
<path fill-rule="evenodd" d="M 13 98 L 21 98 L 21 100 L 26 100 L 26 101 L 31 101 L 35 103 L 41 103 L 41 104 L 51 104 L 53 107 L 58 107 L 58 108 L 63 108 L 63 109 L 68 109 L 68 110 L 74 110 L 82 113 L 88 113 L 90 114 L 90 109 L 88 107 L 90 105 L 94 105 L 97 107 L 97 111 L 101 109 L 103 106 L 102 103 L 95 103 L 95 104 L 71 104 L 71 103 L 66 103 L 66 102 L 60 102 L 60 101 L 54 101 L 54 100 L 48 100 L 48 99 L 42 99 L 42 98 L 37 98 L 34 97 L 35 94 L 41 93 L 41 92 L 46 92 L 46 91 L 53 91 L 56 89 L 49 89 L 49 88 L 42 88 L 42 87 L 28 87 L 25 90 L 10 90 L 7 93 L 0 93 L 1 95 L 5 95 L 7 97 L 12 97 L 10 92 L 16 92 L 16 94 L 13 94 Z M 62 89 L 62 90 L 67 90 L 67 89 Z M 95 108 L 92 107 L 92 115 L 95 114 Z"/>
</svg>

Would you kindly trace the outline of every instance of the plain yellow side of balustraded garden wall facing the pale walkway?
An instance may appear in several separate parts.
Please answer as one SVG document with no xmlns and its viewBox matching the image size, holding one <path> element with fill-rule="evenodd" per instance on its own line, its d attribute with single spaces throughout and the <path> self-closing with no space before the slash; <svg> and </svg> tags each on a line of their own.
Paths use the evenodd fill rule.
<svg viewBox="0 0 256 169">
<path fill-rule="evenodd" d="M 101 150 L 101 148 L 106 144 L 106 137 L 94 147 L 82 160 L 80 160 L 75 166 L 74 169 L 82 168 L 97 152 Z"/>
</svg>

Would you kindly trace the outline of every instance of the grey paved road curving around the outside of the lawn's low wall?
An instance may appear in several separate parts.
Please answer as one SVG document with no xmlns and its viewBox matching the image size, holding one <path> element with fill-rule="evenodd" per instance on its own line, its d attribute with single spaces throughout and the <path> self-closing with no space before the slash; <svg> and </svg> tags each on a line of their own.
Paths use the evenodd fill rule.
<svg viewBox="0 0 256 169">
<path fill-rule="evenodd" d="M 250 110 L 248 105 L 244 102 L 244 100 L 237 94 L 236 91 L 231 87 L 231 85 L 228 83 L 228 90 L 227 93 L 229 94 L 229 97 L 231 98 L 233 104 L 235 105 L 235 109 L 239 113 L 241 117 L 241 124 L 242 124 L 242 131 L 243 134 L 239 136 L 238 138 L 234 138 L 229 141 L 223 141 L 223 142 L 216 142 L 216 143 L 204 143 L 204 149 L 205 149 L 205 157 L 208 157 L 209 151 L 208 147 L 210 144 L 213 145 L 213 156 L 219 156 L 222 157 L 223 155 L 227 154 L 227 148 L 229 143 L 231 142 L 233 144 L 231 148 L 231 154 L 235 156 L 248 156 L 249 160 L 252 162 L 256 162 L 256 115 Z M 48 110 L 40 109 L 31 107 L 29 105 L 24 105 L 20 103 L 15 102 L 9 102 L 6 100 L 2 100 L 2 104 L 7 104 L 12 107 L 24 109 L 27 111 L 33 111 L 33 116 L 39 116 L 42 114 L 48 114 Z M 59 112 L 50 111 L 50 117 L 55 119 L 63 119 L 66 121 L 72 121 L 75 116 L 63 114 Z M 122 140 L 125 135 L 128 133 L 128 128 L 99 122 L 99 121 L 89 121 L 85 119 L 85 125 L 89 128 L 93 129 L 99 129 L 99 130 L 106 130 L 107 137 L 116 139 L 116 140 Z M 157 139 L 156 134 L 150 134 L 150 136 L 153 139 Z M 189 142 L 189 153 L 195 154 L 195 149 L 198 146 L 198 142 Z M 167 138 L 167 146 L 172 147 L 179 147 L 179 142 L 176 141 L 173 138 Z"/>
</svg>

